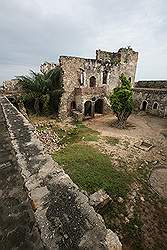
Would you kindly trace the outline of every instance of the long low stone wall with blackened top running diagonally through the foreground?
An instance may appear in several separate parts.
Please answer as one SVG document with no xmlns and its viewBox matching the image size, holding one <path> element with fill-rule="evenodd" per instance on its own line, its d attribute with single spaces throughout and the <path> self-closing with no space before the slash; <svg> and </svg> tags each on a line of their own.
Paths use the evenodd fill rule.
<svg viewBox="0 0 167 250">
<path fill-rule="evenodd" d="M 106 229 L 88 197 L 44 152 L 33 126 L 5 97 L 0 102 L 43 244 L 54 250 L 121 250 L 118 237 Z"/>
</svg>

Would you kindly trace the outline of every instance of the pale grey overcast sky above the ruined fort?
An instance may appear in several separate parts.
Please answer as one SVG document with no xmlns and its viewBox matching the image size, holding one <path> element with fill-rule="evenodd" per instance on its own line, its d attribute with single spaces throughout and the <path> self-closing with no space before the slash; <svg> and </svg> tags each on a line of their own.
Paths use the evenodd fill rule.
<svg viewBox="0 0 167 250">
<path fill-rule="evenodd" d="M 127 46 L 139 52 L 136 80 L 167 79 L 167 0 L 0 0 L 0 82 Z"/>
</svg>

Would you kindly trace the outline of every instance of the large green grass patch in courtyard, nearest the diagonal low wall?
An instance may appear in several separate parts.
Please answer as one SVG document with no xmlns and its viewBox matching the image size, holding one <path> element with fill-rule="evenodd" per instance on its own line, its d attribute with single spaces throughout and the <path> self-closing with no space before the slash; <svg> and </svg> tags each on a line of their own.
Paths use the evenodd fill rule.
<svg viewBox="0 0 167 250">
<path fill-rule="evenodd" d="M 132 178 L 124 171 L 112 167 L 106 156 L 88 145 L 73 144 L 53 155 L 66 173 L 82 189 L 93 193 L 104 189 L 114 196 L 126 196 Z"/>
</svg>

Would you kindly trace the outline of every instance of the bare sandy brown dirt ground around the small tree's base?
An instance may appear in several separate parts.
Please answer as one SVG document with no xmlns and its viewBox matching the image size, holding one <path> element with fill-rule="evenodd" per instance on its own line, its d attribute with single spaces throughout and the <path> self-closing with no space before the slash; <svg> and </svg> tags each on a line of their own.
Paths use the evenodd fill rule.
<svg viewBox="0 0 167 250">
<path fill-rule="evenodd" d="M 115 159 L 124 159 L 127 163 L 144 160 L 153 162 L 155 165 L 157 163 L 164 165 L 167 162 L 167 140 L 161 134 L 161 131 L 167 127 L 167 119 L 131 115 L 128 120 L 131 126 L 122 130 L 110 126 L 115 119 L 112 115 L 106 115 L 85 121 L 85 125 L 100 132 L 104 138 L 106 136 L 116 137 L 120 141 L 112 146 L 102 138 L 99 142 L 94 143 L 100 146 L 100 150 Z M 148 151 L 143 150 L 140 148 L 143 142 L 151 145 L 152 148 Z"/>
</svg>

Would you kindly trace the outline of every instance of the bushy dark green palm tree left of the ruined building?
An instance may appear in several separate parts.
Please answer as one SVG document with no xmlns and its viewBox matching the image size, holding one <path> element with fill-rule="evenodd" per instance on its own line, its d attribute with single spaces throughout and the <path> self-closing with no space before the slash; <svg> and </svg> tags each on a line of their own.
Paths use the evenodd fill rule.
<svg viewBox="0 0 167 250">
<path fill-rule="evenodd" d="M 18 76 L 19 84 L 22 86 L 23 102 L 36 114 L 57 113 L 60 98 L 63 93 L 62 72 L 60 67 L 51 69 L 46 73 L 35 73 L 30 71 L 28 76 Z"/>
</svg>

